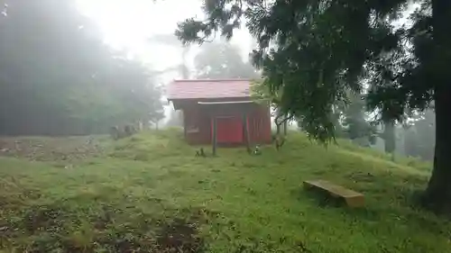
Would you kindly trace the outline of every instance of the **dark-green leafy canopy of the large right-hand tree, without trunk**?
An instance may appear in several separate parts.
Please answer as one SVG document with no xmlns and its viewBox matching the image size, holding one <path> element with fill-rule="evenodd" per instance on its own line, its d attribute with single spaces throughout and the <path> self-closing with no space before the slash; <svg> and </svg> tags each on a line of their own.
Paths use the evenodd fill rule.
<svg viewBox="0 0 451 253">
<path fill-rule="evenodd" d="M 421 82 L 425 71 L 418 64 L 428 44 L 428 3 L 413 28 L 395 29 L 391 23 L 407 7 L 407 0 L 207 0 L 207 19 L 179 23 L 176 34 L 184 43 L 202 43 L 216 31 L 231 38 L 245 22 L 259 46 L 253 63 L 271 92 L 283 91 L 281 111 L 327 141 L 334 137 L 333 105 L 349 91 L 369 90 L 368 108 L 378 108 L 385 120 L 430 102 L 433 85 Z M 419 45 L 413 55 L 408 42 Z"/>
</svg>

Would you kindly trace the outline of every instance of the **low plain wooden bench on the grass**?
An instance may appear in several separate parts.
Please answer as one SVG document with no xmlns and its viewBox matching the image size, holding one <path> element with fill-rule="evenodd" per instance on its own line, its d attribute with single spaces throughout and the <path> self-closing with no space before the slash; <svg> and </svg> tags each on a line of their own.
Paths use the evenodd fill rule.
<svg viewBox="0 0 451 253">
<path fill-rule="evenodd" d="M 357 193 L 340 185 L 334 185 L 326 180 L 304 181 L 304 187 L 306 189 L 321 189 L 333 197 L 343 198 L 350 207 L 364 206 L 364 194 Z"/>
</svg>

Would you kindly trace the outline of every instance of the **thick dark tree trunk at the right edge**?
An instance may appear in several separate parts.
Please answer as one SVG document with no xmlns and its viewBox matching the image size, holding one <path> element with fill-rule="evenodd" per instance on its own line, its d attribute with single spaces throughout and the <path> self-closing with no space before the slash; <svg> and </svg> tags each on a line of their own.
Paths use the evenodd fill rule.
<svg viewBox="0 0 451 253">
<path fill-rule="evenodd" d="M 425 201 L 437 212 L 451 211 L 451 78 L 449 68 L 451 56 L 449 53 L 451 37 L 449 36 L 449 21 L 451 19 L 451 1 L 432 0 L 432 25 L 434 40 L 434 62 L 432 70 L 436 85 L 436 149 L 434 153 L 434 168 L 429 179 Z"/>
</svg>

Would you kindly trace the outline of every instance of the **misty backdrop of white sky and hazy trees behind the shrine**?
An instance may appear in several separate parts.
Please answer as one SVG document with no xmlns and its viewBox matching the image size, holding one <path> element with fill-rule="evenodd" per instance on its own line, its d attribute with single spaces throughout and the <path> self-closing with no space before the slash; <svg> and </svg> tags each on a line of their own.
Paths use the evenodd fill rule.
<svg viewBox="0 0 451 253">
<path fill-rule="evenodd" d="M 182 47 L 177 23 L 202 17 L 200 7 L 194 0 L 0 0 L 0 134 L 89 135 L 134 122 L 180 127 L 164 96 L 171 80 L 259 77 L 245 29 L 228 42 L 216 36 Z M 433 158 L 433 111 L 373 125 L 357 96 L 335 112 L 337 137 Z"/>
</svg>

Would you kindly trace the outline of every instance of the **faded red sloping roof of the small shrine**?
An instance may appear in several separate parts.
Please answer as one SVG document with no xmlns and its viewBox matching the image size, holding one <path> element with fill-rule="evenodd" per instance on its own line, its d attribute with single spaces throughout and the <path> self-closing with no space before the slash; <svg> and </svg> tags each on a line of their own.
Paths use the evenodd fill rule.
<svg viewBox="0 0 451 253">
<path fill-rule="evenodd" d="M 249 97 L 249 79 L 174 80 L 168 100 Z"/>
</svg>

